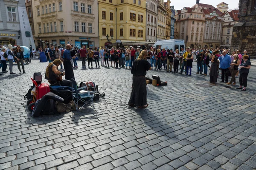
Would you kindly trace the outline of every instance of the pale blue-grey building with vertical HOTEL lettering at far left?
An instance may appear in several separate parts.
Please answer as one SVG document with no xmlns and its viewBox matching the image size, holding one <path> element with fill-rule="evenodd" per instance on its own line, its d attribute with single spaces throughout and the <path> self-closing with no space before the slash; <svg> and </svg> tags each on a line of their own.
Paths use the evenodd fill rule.
<svg viewBox="0 0 256 170">
<path fill-rule="evenodd" d="M 35 48 L 24 0 L 0 1 L 0 45 Z"/>
</svg>

